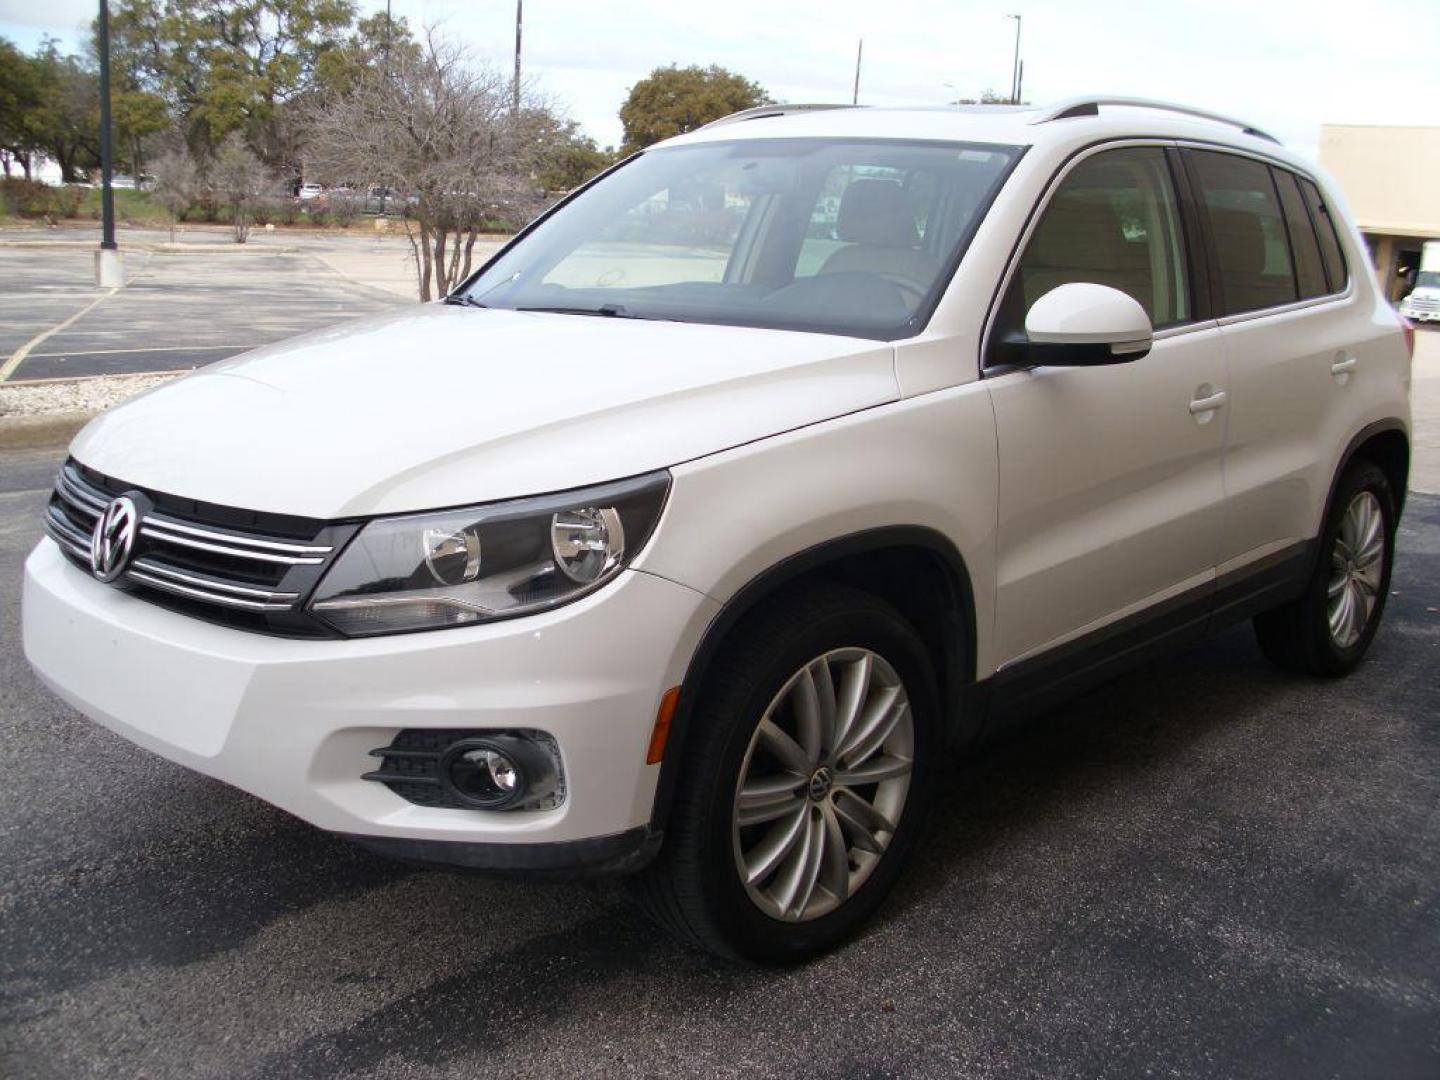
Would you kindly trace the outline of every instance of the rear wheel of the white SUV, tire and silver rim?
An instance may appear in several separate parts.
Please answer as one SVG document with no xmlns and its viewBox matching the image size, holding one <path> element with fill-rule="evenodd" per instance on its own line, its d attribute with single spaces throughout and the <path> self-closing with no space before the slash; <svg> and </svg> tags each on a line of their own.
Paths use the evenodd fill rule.
<svg viewBox="0 0 1440 1080">
<path fill-rule="evenodd" d="M 1315 570 L 1295 600 L 1256 616 L 1260 651 L 1277 667 L 1336 678 L 1364 658 L 1385 612 L 1395 550 L 1395 500 L 1372 462 L 1335 487 Z"/>
</svg>

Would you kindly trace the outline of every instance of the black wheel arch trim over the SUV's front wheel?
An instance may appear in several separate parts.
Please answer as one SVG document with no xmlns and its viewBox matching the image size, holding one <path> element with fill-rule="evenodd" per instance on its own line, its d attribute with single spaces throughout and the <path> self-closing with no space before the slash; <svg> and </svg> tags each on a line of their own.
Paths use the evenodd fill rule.
<svg viewBox="0 0 1440 1080">
<path fill-rule="evenodd" d="M 660 768 L 651 831 L 665 828 L 693 734 L 694 707 L 730 634 L 766 600 L 806 582 L 838 582 L 873 593 L 904 615 L 924 639 L 936 668 L 946 732 L 966 744 L 982 723 L 962 708 L 975 681 L 975 593 L 963 556 L 942 533 L 923 526 L 887 526 L 827 540 L 782 559 L 724 602 L 691 654 Z"/>
</svg>

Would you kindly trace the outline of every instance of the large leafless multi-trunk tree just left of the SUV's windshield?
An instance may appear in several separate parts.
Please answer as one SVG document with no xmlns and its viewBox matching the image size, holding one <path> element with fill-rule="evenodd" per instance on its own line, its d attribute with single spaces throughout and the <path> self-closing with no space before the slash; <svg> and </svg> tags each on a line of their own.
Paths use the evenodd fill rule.
<svg viewBox="0 0 1440 1080">
<path fill-rule="evenodd" d="M 516 115 L 510 79 L 433 30 L 419 46 L 315 105 L 307 171 L 409 199 L 406 235 L 428 301 L 469 274 L 487 219 L 526 220 L 539 209 L 531 179 L 539 128 L 526 115 L 547 109 L 531 98 Z"/>
</svg>

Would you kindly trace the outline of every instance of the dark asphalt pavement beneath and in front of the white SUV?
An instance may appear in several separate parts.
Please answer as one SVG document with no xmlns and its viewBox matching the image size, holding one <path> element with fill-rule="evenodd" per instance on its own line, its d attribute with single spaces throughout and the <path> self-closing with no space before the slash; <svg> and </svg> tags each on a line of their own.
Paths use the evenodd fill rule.
<svg viewBox="0 0 1440 1080">
<path fill-rule="evenodd" d="M 1076 700 L 775 972 L 613 883 L 369 855 L 58 703 L 17 638 L 55 465 L 0 459 L 6 1077 L 1440 1076 L 1440 498 L 1351 678 L 1238 628 Z"/>
</svg>

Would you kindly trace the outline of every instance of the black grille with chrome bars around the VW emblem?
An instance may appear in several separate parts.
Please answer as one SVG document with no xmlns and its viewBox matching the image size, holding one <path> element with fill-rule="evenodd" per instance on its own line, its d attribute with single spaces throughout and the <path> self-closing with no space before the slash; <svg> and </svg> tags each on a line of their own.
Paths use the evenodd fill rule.
<svg viewBox="0 0 1440 1080">
<path fill-rule="evenodd" d="M 120 481 L 92 481 L 69 461 L 56 478 L 55 495 L 46 508 L 46 531 L 62 552 L 88 569 L 95 523 L 111 498 L 131 490 Z M 150 497 L 153 492 L 143 494 Z M 154 500 L 161 505 L 161 500 L 180 503 L 167 495 Z M 235 624 L 236 615 L 258 618 L 258 624 L 239 622 L 252 629 L 323 634 L 324 628 L 302 613 L 302 600 L 354 526 L 311 524 L 314 534 L 295 540 L 150 510 L 140 521 L 135 550 L 120 583 L 148 599 L 179 603 L 192 613 L 225 613 L 223 622 Z"/>
</svg>

